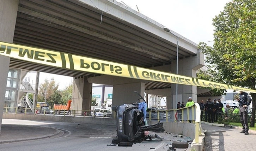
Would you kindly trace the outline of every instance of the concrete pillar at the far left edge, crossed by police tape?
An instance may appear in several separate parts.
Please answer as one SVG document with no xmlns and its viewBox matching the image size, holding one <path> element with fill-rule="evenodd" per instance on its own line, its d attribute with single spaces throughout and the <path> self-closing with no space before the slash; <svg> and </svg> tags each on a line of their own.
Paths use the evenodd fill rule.
<svg viewBox="0 0 256 151">
<path fill-rule="evenodd" d="M 12 43 L 19 0 L 0 0 L 0 41 Z M 10 57 L 0 55 L 0 132 Z"/>
</svg>

